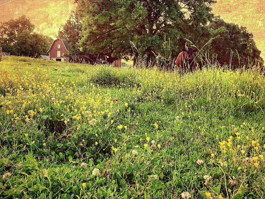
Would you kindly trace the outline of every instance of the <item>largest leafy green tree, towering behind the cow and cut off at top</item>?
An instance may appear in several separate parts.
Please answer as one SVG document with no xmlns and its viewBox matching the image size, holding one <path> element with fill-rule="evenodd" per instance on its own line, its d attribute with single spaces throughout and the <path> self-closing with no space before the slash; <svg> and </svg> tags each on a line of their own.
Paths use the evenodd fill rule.
<svg viewBox="0 0 265 199">
<path fill-rule="evenodd" d="M 76 13 L 83 21 L 79 42 L 81 50 L 91 53 L 103 52 L 108 55 L 110 63 L 121 55 L 126 58 L 128 55 L 146 54 L 148 60 L 152 60 L 154 53 L 165 54 L 165 37 L 170 38 L 173 55 L 177 55 L 185 45 L 184 38 L 200 42 L 206 32 L 207 22 L 213 17 L 210 6 L 215 2 L 76 1 Z"/>
</svg>

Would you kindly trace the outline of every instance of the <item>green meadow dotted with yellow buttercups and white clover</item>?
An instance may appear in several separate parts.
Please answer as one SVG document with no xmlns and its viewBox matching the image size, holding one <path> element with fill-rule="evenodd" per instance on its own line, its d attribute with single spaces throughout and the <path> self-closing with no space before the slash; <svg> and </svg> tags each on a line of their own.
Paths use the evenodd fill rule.
<svg viewBox="0 0 265 199">
<path fill-rule="evenodd" d="M 0 197 L 264 198 L 264 75 L 0 63 Z"/>
</svg>

